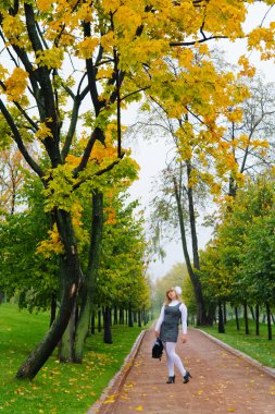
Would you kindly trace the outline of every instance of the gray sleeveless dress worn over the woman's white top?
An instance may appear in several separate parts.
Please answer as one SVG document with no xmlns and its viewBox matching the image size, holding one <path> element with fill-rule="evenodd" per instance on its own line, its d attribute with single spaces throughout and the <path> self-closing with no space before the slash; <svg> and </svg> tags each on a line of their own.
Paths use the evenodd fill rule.
<svg viewBox="0 0 275 414">
<path fill-rule="evenodd" d="M 161 324 L 160 338 L 162 342 L 177 342 L 178 337 L 178 325 L 182 317 L 178 303 L 175 306 L 166 305 L 164 308 L 164 319 Z"/>
</svg>

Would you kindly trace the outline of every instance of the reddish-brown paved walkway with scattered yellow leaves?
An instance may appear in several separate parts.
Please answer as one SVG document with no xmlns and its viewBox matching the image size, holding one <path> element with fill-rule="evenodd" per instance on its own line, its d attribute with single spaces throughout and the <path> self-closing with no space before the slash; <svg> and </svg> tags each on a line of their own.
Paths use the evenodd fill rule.
<svg viewBox="0 0 275 414">
<path fill-rule="evenodd" d="M 87 414 L 274 414 L 275 375 L 222 348 L 196 329 L 177 344 L 192 378 L 167 385 L 166 358 L 151 357 L 152 330 L 143 333 L 130 358 Z"/>
</svg>

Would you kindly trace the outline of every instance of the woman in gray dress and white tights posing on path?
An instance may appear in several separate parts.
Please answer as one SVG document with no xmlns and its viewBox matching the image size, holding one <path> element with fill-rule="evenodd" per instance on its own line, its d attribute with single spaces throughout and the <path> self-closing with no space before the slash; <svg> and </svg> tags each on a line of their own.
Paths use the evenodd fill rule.
<svg viewBox="0 0 275 414">
<path fill-rule="evenodd" d="M 183 334 L 182 342 L 187 341 L 187 307 L 180 302 L 179 295 L 182 289 L 179 287 L 171 288 L 166 292 L 165 303 L 162 306 L 160 317 L 155 325 L 155 337 L 160 337 L 166 352 L 168 379 L 167 383 L 175 382 L 174 366 L 179 370 L 183 382 L 187 383 L 191 375 L 185 369 L 182 360 L 176 353 L 176 343 L 178 338 L 178 324 L 182 319 Z"/>
</svg>

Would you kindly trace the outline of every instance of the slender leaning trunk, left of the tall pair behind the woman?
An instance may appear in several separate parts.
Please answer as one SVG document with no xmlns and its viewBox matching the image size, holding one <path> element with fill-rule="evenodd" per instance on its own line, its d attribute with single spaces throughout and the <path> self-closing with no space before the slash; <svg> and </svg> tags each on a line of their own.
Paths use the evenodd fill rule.
<svg viewBox="0 0 275 414">
<path fill-rule="evenodd" d="M 190 277 L 190 280 L 191 280 L 191 283 L 193 287 L 193 291 L 195 291 L 195 299 L 196 299 L 196 305 L 197 305 L 197 320 L 198 320 L 199 326 L 200 325 L 208 325 L 208 318 L 207 318 L 207 313 L 205 313 L 205 307 L 204 307 L 204 302 L 203 302 L 201 282 L 192 269 L 190 256 L 189 256 L 188 248 L 187 248 L 186 230 L 185 230 L 185 222 L 184 222 L 184 211 L 183 211 L 183 207 L 182 207 L 180 194 L 179 194 L 179 190 L 178 190 L 176 179 L 174 178 L 173 180 L 174 180 L 175 198 L 176 198 L 176 203 L 177 203 L 177 212 L 178 212 L 182 245 L 183 245 L 183 251 L 184 251 L 184 256 L 185 256 L 185 261 L 186 261 L 188 275 Z"/>
</svg>

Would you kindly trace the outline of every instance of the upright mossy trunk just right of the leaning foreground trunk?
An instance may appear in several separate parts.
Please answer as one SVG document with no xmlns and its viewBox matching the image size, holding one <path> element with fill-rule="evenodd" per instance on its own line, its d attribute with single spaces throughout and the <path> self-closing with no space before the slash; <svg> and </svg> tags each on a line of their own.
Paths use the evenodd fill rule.
<svg viewBox="0 0 275 414">
<path fill-rule="evenodd" d="M 74 342 L 75 362 L 82 363 L 86 337 L 89 331 L 91 310 L 93 307 L 93 292 L 99 269 L 100 251 L 103 231 L 103 194 L 95 191 L 92 194 L 92 220 L 89 264 L 87 276 L 80 291 L 82 304 Z"/>
</svg>

